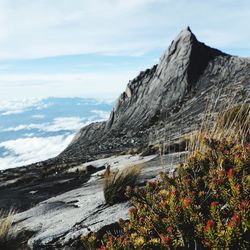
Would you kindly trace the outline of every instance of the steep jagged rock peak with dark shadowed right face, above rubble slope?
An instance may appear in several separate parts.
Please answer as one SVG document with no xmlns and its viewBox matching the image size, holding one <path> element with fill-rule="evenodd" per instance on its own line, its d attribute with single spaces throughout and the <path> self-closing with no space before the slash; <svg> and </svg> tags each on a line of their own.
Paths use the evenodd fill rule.
<svg viewBox="0 0 250 250">
<path fill-rule="evenodd" d="M 173 103 L 180 102 L 195 87 L 209 62 L 220 55 L 223 55 L 221 51 L 200 43 L 189 27 L 182 30 L 159 64 L 141 72 L 128 84 L 106 129 L 133 126 L 136 119 L 137 128 L 151 124 L 156 114 L 166 113 Z"/>
</svg>

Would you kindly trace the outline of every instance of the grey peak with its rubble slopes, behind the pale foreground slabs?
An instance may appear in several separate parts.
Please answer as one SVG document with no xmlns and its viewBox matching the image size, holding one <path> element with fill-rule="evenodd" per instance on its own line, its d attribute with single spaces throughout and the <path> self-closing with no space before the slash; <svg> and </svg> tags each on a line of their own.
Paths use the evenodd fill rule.
<svg viewBox="0 0 250 250">
<path fill-rule="evenodd" d="M 173 143 L 195 130 L 208 103 L 249 100 L 250 59 L 227 55 L 199 42 L 190 28 L 180 32 L 158 65 L 130 81 L 107 122 L 77 134 L 57 162 L 85 161 Z M 210 100 L 211 99 L 211 100 Z"/>
</svg>

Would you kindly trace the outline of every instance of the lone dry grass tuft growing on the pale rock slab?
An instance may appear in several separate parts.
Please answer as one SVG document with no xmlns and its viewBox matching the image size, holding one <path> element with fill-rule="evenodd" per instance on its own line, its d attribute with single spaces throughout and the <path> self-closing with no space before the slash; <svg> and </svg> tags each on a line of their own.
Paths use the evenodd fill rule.
<svg viewBox="0 0 250 250">
<path fill-rule="evenodd" d="M 140 175 L 141 166 L 126 167 L 122 171 L 113 173 L 111 171 L 104 175 L 104 197 L 108 205 L 128 200 L 125 195 L 127 186 L 134 187 Z"/>
</svg>

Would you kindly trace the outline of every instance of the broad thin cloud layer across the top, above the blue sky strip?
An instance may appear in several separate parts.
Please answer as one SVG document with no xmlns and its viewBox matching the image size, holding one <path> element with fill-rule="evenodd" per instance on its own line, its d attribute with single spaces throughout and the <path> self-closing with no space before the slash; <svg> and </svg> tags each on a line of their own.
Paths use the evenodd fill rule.
<svg viewBox="0 0 250 250">
<path fill-rule="evenodd" d="M 138 54 L 187 25 L 212 45 L 249 49 L 249 21 L 245 0 L 1 0 L 0 58 Z"/>
</svg>

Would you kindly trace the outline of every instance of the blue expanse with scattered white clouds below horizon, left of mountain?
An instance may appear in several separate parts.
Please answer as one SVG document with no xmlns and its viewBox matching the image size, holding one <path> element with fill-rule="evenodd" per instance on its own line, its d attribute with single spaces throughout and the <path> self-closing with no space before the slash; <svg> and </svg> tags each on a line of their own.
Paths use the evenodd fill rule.
<svg viewBox="0 0 250 250">
<path fill-rule="evenodd" d="M 81 98 L 0 102 L 0 170 L 58 155 L 82 127 L 108 119 L 112 102 Z"/>
</svg>

